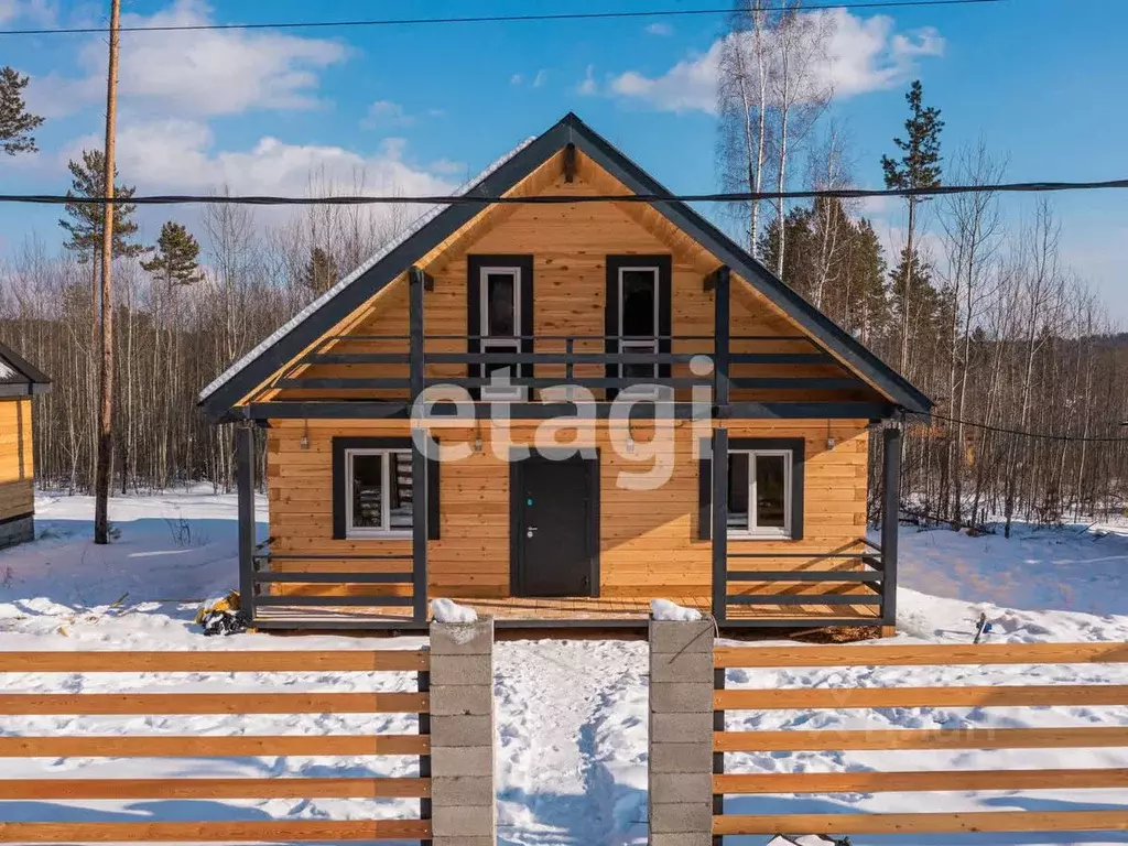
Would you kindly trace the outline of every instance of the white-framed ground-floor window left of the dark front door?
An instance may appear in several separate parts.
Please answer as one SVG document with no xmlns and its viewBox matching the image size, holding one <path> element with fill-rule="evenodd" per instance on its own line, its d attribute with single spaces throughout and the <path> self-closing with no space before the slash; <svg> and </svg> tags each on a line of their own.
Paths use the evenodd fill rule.
<svg viewBox="0 0 1128 846">
<path fill-rule="evenodd" d="M 412 451 L 345 450 L 345 536 L 406 537 L 412 531 Z"/>
</svg>

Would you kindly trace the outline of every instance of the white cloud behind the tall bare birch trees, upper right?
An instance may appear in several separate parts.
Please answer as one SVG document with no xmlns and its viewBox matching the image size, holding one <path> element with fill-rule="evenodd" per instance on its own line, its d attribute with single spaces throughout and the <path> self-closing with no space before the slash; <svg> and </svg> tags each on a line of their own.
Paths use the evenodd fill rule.
<svg viewBox="0 0 1128 846">
<path fill-rule="evenodd" d="M 808 14 L 823 17 L 819 23 L 831 27 L 823 73 L 836 97 L 899 85 L 914 71 L 918 59 L 944 52 L 944 39 L 932 27 L 897 33 L 893 19 L 884 15 L 863 19 L 845 9 Z M 690 54 L 659 76 L 628 70 L 611 80 L 610 90 L 662 111 L 712 114 L 716 111 L 716 79 L 723 46 L 724 39 L 717 39 L 705 53 Z"/>
</svg>

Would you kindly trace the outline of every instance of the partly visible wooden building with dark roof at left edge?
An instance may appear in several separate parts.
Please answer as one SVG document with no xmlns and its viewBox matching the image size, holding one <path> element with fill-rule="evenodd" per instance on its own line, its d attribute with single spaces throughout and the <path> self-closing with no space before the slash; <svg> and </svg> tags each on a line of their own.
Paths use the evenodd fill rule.
<svg viewBox="0 0 1128 846">
<path fill-rule="evenodd" d="M 35 537 L 32 398 L 51 380 L 0 344 L 0 548 Z"/>
</svg>

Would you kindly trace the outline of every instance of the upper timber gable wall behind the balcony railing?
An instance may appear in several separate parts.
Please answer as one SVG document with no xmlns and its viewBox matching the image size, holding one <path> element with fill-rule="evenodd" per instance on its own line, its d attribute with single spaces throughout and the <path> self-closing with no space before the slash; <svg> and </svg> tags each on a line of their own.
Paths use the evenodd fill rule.
<svg viewBox="0 0 1128 846">
<path fill-rule="evenodd" d="M 549 159 L 527 177 L 523 194 L 592 195 L 627 193 L 606 171 L 579 155 L 579 170 L 573 182 L 563 177 L 562 157 Z M 704 279 L 720 262 L 700 245 L 673 227 L 653 209 L 637 203 L 587 203 L 493 206 L 428 256 L 421 266 L 434 279 L 434 290 L 424 296 L 424 325 L 429 336 L 428 353 L 466 352 L 467 342 L 467 257 L 477 255 L 531 255 L 534 257 L 534 334 L 537 336 L 605 334 L 606 266 L 609 255 L 670 255 L 672 257 L 672 333 L 675 336 L 713 337 L 714 294 L 704 290 Z M 739 276 L 733 277 L 731 294 L 733 353 L 810 353 L 818 347 L 794 340 L 800 331 L 782 316 L 766 298 Z M 335 342 L 334 352 L 402 352 L 403 364 L 317 364 L 302 368 L 303 377 L 317 378 L 402 378 L 408 376 L 407 277 L 402 275 L 370 300 L 363 315 L 346 333 L 352 340 Z M 381 340 L 361 340 L 379 336 Z M 399 336 L 403 340 L 389 340 Z M 459 336 L 439 340 L 435 336 Z M 740 341 L 739 336 L 759 336 Z M 774 340 L 777 338 L 777 340 Z M 329 347 L 326 347 L 328 350 Z M 537 352 L 564 352 L 561 341 L 536 342 Z M 602 352 L 602 341 L 576 342 L 575 352 Z M 712 353 L 712 341 L 675 341 L 675 353 Z M 466 376 L 459 364 L 428 364 L 428 378 Z M 576 365 L 575 376 L 599 377 L 601 364 Z M 688 364 L 672 368 L 675 378 L 689 376 Z M 538 377 L 559 377 L 563 364 L 543 364 Z M 826 364 L 739 364 L 733 378 L 751 377 L 843 377 L 834 363 Z M 274 398 L 310 399 L 405 397 L 406 390 L 349 389 L 316 390 L 289 388 Z M 601 398 L 597 393 L 597 398 Z M 688 390 L 679 390 L 680 402 L 689 400 Z M 732 402 L 861 400 L 880 402 L 879 395 L 860 385 L 857 390 L 752 390 L 733 389 Z"/>
</svg>

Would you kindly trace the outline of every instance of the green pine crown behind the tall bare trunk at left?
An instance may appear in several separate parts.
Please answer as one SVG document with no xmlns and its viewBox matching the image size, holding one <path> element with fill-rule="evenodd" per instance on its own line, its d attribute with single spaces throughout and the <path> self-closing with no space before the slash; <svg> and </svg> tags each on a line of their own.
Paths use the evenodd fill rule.
<svg viewBox="0 0 1128 846">
<path fill-rule="evenodd" d="M 82 150 L 81 161 L 69 161 L 67 167 L 71 171 L 71 187 L 68 190 L 67 196 L 105 196 L 105 161 L 102 150 Z M 134 191 L 135 188 L 131 185 L 117 185 L 116 183 L 114 185 L 114 194 L 126 200 L 133 196 Z M 67 203 L 65 208 L 71 219 L 59 221 L 59 226 L 70 233 L 63 246 L 72 253 L 77 253 L 80 262 L 90 261 L 102 249 L 102 229 L 103 221 L 106 219 L 106 209 L 96 203 Z M 140 244 L 130 240 L 138 231 L 138 224 L 133 221 L 135 212 L 136 206 L 132 203 L 116 205 L 114 212 L 115 256 L 138 256 L 144 249 Z"/>
</svg>

